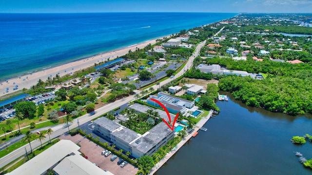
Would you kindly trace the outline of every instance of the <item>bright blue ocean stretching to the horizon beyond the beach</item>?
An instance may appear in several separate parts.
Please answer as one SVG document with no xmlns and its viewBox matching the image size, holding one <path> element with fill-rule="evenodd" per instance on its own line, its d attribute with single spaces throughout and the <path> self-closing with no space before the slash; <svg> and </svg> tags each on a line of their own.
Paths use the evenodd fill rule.
<svg viewBox="0 0 312 175">
<path fill-rule="evenodd" d="M 0 14 L 0 80 L 232 18 L 233 13 Z"/>
</svg>

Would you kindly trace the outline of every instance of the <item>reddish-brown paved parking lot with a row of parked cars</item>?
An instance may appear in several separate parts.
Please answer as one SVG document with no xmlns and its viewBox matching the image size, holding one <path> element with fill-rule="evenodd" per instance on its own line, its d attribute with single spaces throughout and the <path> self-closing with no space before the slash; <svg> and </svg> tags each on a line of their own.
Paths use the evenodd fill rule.
<svg viewBox="0 0 312 175">
<path fill-rule="evenodd" d="M 135 168 L 131 164 L 127 164 L 123 168 L 120 167 L 120 165 L 117 165 L 117 161 L 119 158 L 117 157 L 114 161 L 111 161 L 111 157 L 113 155 L 109 155 L 108 157 L 104 157 L 101 155 L 102 151 L 104 150 L 102 147 L 98 146 L 93 141 L 90 141 L 88 139 L 84 139 L 80 135 L 76 136 L 70 136 L 70 135 L 62 135 L 59 137 L 59 139 L 65 139 L 65 140 L 72 140 L 75 143 L 79 143 L 81 146 L 80 152 L 82 152 L 85 156 L 88 157 L 88 160 L 92 163 L 96 163 L 99 168 L 102 170 L 107 170 L 114 175 L 136 175 L 138 169 Z"/>
</svg>

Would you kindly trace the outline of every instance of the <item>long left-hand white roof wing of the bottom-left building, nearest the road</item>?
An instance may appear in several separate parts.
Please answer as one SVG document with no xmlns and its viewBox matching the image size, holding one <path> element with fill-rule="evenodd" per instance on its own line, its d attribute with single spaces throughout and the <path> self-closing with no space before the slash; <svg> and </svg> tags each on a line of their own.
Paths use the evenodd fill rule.
<svg viewBox="0 0 312 175">
<path fill-rule="evenodd" d="M 60 140 L 7 175 L 41 175 L 64 157 L 80 155 L 79 149 L 80 147 L 71 140 Z"/>
</svg>

